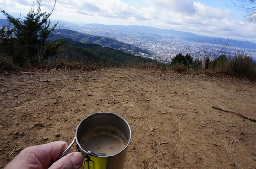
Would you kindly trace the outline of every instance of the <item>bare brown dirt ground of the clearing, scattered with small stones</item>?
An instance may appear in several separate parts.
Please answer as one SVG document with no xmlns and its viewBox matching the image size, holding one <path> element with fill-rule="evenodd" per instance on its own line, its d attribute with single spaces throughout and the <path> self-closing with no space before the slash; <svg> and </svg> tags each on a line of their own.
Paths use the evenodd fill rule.
<svg viewBox="0 0 256 169">
<path fill-rule="evenodd" d="M 71 143 L 92 113 L 132 130 L 125 169 L 256 169 L 256 83 L 142 69 L 0 75 L 0 168 L 22 149 Z M 75 151 L 75 146 L 72 147 Z"/>
</svg>

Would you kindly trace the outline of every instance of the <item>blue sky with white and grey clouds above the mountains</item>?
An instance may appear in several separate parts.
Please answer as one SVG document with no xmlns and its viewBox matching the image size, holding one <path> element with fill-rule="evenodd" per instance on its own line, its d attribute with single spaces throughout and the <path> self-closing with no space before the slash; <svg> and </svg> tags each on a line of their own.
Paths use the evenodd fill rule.
<svg viewBox="0 0 256 169">
<path fill-rule="evenodd" d="M 1 8 L 13 15 L 26 15 L 32 3 L 0 0 Z M 53 4 L 43 0 L 42 9 L 50 11 Z M 51 20 L 145 25 L 256 42 L 256 24 L 247 23 L 243 14 L 231 0 L 57 0 Z"/>
</svg>

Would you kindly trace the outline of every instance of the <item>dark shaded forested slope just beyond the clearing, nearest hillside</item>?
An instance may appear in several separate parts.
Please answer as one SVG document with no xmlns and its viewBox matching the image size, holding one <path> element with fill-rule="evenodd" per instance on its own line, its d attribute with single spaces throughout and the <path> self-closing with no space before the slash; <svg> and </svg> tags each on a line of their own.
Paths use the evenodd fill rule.
<svg viewBox="0 0 256 169">
<path fill-rule="evenodd" d="M 71 39 L 65 40 L 66 50 L 60 57 L 68 62 L 103 67 L 123 67 L 153 62 L 152 59 L 144 59 L 140 56 L 134 56 L 109 47 L 102 47 L 98 44 L 81 43 Z"/>
</svg>

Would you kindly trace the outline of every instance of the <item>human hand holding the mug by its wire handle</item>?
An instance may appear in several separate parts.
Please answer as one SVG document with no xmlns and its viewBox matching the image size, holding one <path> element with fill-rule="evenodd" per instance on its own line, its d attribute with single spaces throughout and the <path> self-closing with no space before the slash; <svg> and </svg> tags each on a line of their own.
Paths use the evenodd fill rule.
<svg viewBox="0 0 256 169">
<path fill-rule="evenodd" d="M 68 150 L 65 156 L 57 160 L 67 147 L 64 141 L 27 147 L 5 169 L 79 169 L 83 163 L 80 152 L 71 153 Z"/>
</svg>

